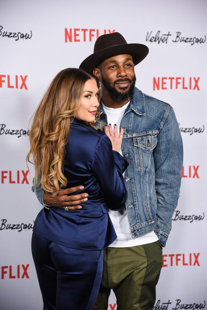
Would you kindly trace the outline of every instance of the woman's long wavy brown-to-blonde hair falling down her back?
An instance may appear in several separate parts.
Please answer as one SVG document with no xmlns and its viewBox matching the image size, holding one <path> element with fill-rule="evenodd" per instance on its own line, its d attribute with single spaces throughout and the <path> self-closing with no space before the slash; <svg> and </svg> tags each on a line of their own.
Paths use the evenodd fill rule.
<svg viewBox="0 0 207 310">
<path fill-rule="evenodd" d="M 63 163 L 70 123 L 79 108 L 85 82 L 92 78 L 99 88 L 97 79 L 81 69 L 62 70 L 52 80 L 34 113 L 26 161 L 34 164 L 35 186 L 38 188 L 41 184 L 53 195 L 67 185 Z M 96 119 L 99 116 L 97 113 Z M 88 125 L 96 128 L 94 123 Z"/>
</svg>

